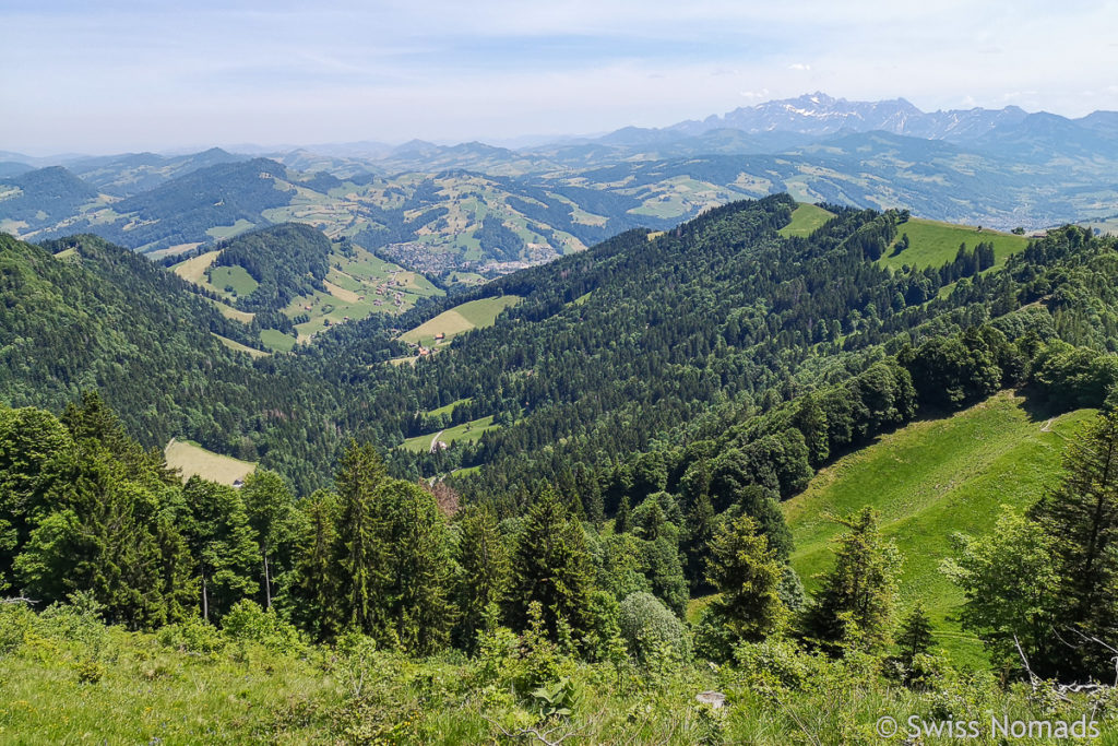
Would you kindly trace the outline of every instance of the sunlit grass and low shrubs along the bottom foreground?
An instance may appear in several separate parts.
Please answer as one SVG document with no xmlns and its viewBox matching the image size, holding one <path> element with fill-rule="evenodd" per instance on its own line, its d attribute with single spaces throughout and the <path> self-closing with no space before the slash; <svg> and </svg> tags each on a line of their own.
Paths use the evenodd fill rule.
<svg viewBox="0 0 1118 746">
<path fill-rule="evenodd" d="M 249 604 L 249 608 L 252 605 Z M 245 616 L 243 614 L 243 616 Z M 499 630 L 481 653 L 425 659 L 362 638 L 307 644 L 249 611 L 249 624 L 201 622 L 129 633 L 89 612 L 36 615 L 0 605 L 0 740 L 11 744 L 852 744 L 882 743 L 882 716 L 936 723 L 991 717 L 1099 720 L 1082 695 L 1044 702 L 991 674 L 942 669 L 925 691 L 880 674 L 881 659 L 827 660 L 781 641 L 747 645 L 718 668 L 663 651 L 589 664 Z M 274 618 L 274 617 L 273 617 Z M 290 627 L 287 627 L 290 630 Z M 539 687 L 547 693 L 538 693 Z M 726 695 L 713 709 L 695 699 Z M 557 711 L 559 710 L 559 711 Z M 889 743 L 950 744 L 947 737 Z M 1014 743 L 1050 743 L 1043 738 Z"/>
</svg>

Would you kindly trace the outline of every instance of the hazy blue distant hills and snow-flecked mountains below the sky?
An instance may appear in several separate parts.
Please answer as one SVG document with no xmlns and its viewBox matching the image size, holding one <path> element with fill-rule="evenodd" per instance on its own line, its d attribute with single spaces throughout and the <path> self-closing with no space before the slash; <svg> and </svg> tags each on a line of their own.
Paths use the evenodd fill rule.
<svg viewBox="0 0 1118 746">
<path fill-rule="evenodd" d="M 1118 216 L 1118 113 L 922 112 L 814 93 L 529 148 L 413 140 L 173 157 L 0 152 L 0 230 L 138 251 L 295 220 L 428 273 L 498 274 L 746 197 L 1001 228 Z"/>
</svg>

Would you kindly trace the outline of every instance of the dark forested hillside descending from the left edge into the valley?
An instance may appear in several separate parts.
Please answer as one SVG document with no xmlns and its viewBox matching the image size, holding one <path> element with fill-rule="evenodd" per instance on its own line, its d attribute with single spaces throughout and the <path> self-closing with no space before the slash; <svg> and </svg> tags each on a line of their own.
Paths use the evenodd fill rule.
<svg viewBox="0 0 1118 746">
<path fill-rule="evenodd" d="M 313 369 L 230 351 L 214 334 L 253 346 L 250 327 L 100 238 L 38 247 L 0 236 L 0 388 L 9 405 L 58 410 L 100 390 L 144 447 L 188 436 L 285 463 L 296 483 L 320 483 L 311 464 L 329 463 L 340 436 L 300 421 L 337 412 L 339 390 L 321 386 Z"/>
</svg>

